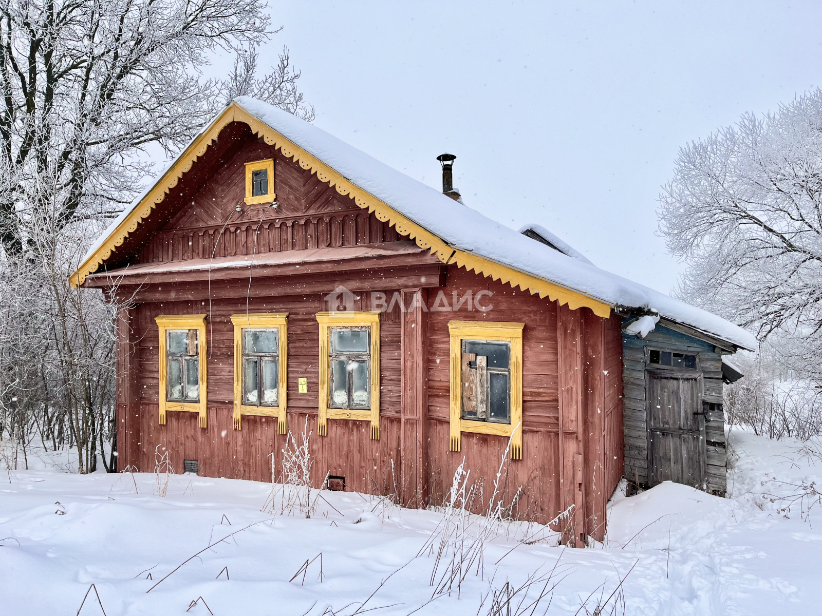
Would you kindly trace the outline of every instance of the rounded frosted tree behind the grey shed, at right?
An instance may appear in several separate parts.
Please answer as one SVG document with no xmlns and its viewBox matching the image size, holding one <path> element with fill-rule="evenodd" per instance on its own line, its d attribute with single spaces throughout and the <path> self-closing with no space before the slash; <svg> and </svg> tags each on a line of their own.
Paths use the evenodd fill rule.
<svg viewBox="0 0 822 616">
<path fill-rule="evenodd" d="M 677 294 L 754 329 L 822 377 L 822 90 L 680 149 L 660 230 Z"/>
</svg>

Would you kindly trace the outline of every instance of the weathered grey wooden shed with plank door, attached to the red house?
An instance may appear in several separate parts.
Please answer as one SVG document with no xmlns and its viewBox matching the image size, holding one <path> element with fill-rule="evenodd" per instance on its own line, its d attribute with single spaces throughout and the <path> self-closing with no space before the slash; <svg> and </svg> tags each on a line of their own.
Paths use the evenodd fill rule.
<svg viewBox="0 0 822 616">
<path fill-rule="evenodd" d="M 622 345 L 626 478 L 641 488 L 671 480 L 724 496 L 722 358 L 739 347 L 669 319 L 644 338 L 626 331 Z"/>
</svg>

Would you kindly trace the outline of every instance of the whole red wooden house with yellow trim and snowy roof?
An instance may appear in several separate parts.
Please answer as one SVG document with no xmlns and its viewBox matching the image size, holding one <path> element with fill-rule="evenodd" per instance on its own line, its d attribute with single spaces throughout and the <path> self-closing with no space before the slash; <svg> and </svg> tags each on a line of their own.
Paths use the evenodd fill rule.
<svg viewBox="0 0 822 616">
<path fill-rule="evenodd" d="M 72 275 L 122 306 L 119 466 L 152 471 L 159 447 L 177 471 L 267 481 L 307 426 L 316 487 L 418 507 L 463 462 L 490 494 L 507 452 L 512 513 L 566 512 L 581 545 L 623 475 L 653 483 L 653 461 L 691 455 L 656 446 L 693 430 L 654 423 L 664 393 L 683 417 L 708 409 L 695 450 L 721 491 L 704 421 L 721 417 L 720 356 L 750 334 L 483 217 L 453 159 L 440 192 L 259 101 L 215 117 Z M 663 321 L 623 333 L 644 315 Z"/>
</svg>

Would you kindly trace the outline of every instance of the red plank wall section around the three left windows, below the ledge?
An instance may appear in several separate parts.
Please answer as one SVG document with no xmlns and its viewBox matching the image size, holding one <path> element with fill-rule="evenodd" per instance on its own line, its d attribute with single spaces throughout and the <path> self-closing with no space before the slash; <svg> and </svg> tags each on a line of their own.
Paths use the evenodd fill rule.
<svg viewBox="0 0 822 616">
<path fill-rule="evenodd" d="M 390 296 L 391 292 L 387 294 Z M 358 310 L 370 310 L 370 294 L 357 300 Z M 367 421 L 330 420 L 328 435 L 316 432 L 318 379 L 318 326 L 316 313 L 326 310 L 320 295 L 303 297 L 252 298 L 250 312 L 289 313 L 289 430 L 299 439 L 307 418 L 307 430 L 315 466 L 312 478 L 319 485 L 326 476 L 346 477 L 351 490 L 392 494 L 399 471 L 400 394 L 400 319 L 399 307 L 381 318 L 381 438 L 370 438 Z M 206 329 L 208 345 L 208 418 L 205 429 L 197 427 L 196 414 L 169 411 L 167 425 L 157 421 L 158 329 L 154 318 L 160 314 L 193 314 L 208 311 L 199 301 L 144 303 L 137 309 L 141 339 L 139 413 L 141 438 L 131 462 L 142 471 L 153 471 L 155 448 L 169 451 L 175 470 L 182 471 L 182 460 L 200 462 L 200 474 L 267 481 L 271 478 L 270 453 L 275 453 L 275 473 L 282 463 L 285 437 L 276 434 L 276 419 L 243 416 L 242 430 L 232 429 L 233 402 L 233 324 L 230 315 L 246 310 L 246 302 L 217 300 L 211 303 L 211 318 Z M 307 393 L 298 392 L 298 379 L 308 379 Z M 392 466 L 393 465 L 393 466 Z M 394 470 L 396 469 L 396 470 Z"/>
</svg>

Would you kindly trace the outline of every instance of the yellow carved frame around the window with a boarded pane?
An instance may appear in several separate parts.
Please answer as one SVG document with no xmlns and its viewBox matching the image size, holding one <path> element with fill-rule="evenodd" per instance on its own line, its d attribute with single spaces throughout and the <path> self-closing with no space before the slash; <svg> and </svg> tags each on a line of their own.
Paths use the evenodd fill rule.
<svg viewBox="0 0 822 616">
<path fill-rule="evenodd" d="M 462 433 L 496 434 L 511 439 L 512 460 L 522 459 L 522 329 L 524 323 L 500 321 L 449 321 L 450 335 L 450 451 L 462 451 Z M 462 418 L 462 341 L 501 340 L 510 342 L 510 424 L 471 421 Z M 513 436 L 512 436 L 513 435 Z"/>
</svg>

